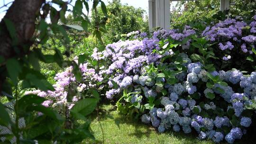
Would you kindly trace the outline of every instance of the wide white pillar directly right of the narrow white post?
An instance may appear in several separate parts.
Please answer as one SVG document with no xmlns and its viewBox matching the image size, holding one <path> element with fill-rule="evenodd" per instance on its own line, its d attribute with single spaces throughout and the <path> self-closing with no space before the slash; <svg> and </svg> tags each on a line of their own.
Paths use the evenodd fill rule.
<svg viewBox="0 0 256 144">
<path fill-rule="evenodd" d="M 156 27 L 170 29 L 170 0 L 155 0 Z"/>
</svg>

